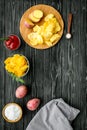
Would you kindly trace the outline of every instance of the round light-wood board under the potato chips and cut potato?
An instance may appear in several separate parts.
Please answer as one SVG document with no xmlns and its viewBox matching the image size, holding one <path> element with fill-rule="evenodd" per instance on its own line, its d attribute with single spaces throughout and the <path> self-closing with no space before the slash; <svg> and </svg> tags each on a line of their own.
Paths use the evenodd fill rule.
<svg viewBox="0 0 87 130">
<path fill-rule="evenodd" d="M 25 25 L 24 25 L 25 19 L 28 18 L 28 17 L 29 17 L 29 14 L 30 14 L 31 12 L 33 12 L 34 10 L 36 10 L 36 9 L 42 10 L 43 13 L 44 13 L 44 16 L 46 16 L 46 15 L 49 14 L 49 13 L 54 14 L 55 17 L 57 18 L 57 20 L 59 21 L 59 24 L 60 24 L 60 26 L 61 26 L 61 31 L 58 32 L 58 34 L 60 34 L 60 37 L 59 37 L 59 39 L 58 39 L 57 41 L 55 41 L 55 42 L 53 43 L 52 46 L 54 46 L 55 44 L 57 44 L 58 41 L 61 39 L 62 34 L 63 34 L 63 30 L 64 30 L 64 22 L 63 22 L 63 19 L 62 19 L 60 13 L 59 13 L 56 9 L 54 9 L 54 8 L 51 7 L 51 6 L 43 5 L 43 4 L 39 4 L 39 5 L 32 6 L 31 8 L 29 8 L 29 9 L 23 14 L 23 16 L 22 16 L 22 18 L 21 18 L 21 20 L 20 20 L 20 33 L 21 33 L 21 36 L 23 37 L 24 41 L 25 41 L 29 46 L 31 46 L 31 47 L 33 47 L 33 48 L 36 48 L 36 49 L 47 49 L 47 48 L 50 48 L 50 47 L 49 47 L 48 45 L 46 45 L 46 44 L 36 45 L 36 46 L 32 46 L 32 45 L 30 44 L 29 39 L 28 39 L 28 34 L 29 34 L 30 32 L 32 32 L 33 30 L 26 28 Z M 36 25 L 41 25 L 41 24 L 43 23 L 43 21 L 44 21 L 44 18 L 42 18 L 42 20 L 41 20 L 39 23 L 36 23 Z M 52 46 L 51 46 L 51 47 L 52 47 Z"/>
</svg>

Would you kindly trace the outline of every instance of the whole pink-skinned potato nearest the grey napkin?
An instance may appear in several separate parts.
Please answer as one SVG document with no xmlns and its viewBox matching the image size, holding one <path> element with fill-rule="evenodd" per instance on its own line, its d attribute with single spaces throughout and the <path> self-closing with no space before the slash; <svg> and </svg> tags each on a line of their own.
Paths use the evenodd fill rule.
<svg viewBox="0 0 87 130">
<path fill-rule="evenodd" d="M 27 102 L 27 108 L 28 108 L 29 110 L 31 110 L 31 111 L 34 111 L 34 110 L 37 109 L 37 107 L 39 106 L 39 104 L 40 104 L 40 99 L 38 99 L 38 98 L 33 98 L 33 99 L 31 99 L 31 100 L 29 100 L 29 101 Z"/>
</svg>

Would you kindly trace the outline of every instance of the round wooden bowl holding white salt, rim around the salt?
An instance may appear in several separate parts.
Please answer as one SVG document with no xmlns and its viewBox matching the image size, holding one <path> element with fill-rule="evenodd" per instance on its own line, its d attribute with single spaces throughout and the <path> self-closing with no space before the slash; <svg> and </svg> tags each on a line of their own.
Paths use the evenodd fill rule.
<svg viewBox="0 0 87 130">
<path fill-rule="evenodd" d="M 19 110 L 20 110 L 20 115 L 19 115 L 19 117 L 18 117 L 17 119 L 15 119 L 15 120 L 9 120 L 9 119 L 6 117 L 6 115 L 5 115 L 5 110 L 6 110 L 6 108 L 7 108 L 8 106 L 11 106 L 11 105 L 14 105 L 14 106 L 18 107 Z M 18 121 L 22 118 L 22 115 L 23 115 L 22 108 L 21 108 L 17 103 L 8 103 L 8 104 L 6 104 L 6 105 L 4 106 L 4 108 L 3 108 L 3 110 L 2 110 L 2 116 L 3 116 L 3 118 L 4 118 L 7 122 L 9 122 L 9 123 L 16 123 L 16 122 L 18 122 Z"/>
</svg>

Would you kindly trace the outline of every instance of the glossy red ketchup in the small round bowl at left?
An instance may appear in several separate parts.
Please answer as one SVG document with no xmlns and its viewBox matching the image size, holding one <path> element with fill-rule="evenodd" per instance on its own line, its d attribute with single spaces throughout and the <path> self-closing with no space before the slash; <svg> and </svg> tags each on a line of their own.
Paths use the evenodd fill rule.
<svg viewBox="0 0 87 130">
<path fill-rule="evenodd" d="M 5 46 L 9 50 L 17 50 L 20 47 L 20 44 L 19 37 L 14 34 L 8 36 L 8 40 L 5 41 Z"/>
</svg>

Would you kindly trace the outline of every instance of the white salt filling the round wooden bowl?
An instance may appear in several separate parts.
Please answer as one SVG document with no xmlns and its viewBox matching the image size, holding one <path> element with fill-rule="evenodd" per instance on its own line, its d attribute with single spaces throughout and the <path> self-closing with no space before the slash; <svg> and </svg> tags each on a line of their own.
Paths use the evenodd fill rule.
<svg viewBox="0 0 87 130">
<path fill-rule="evenodd" d="M 7 119 L 9 120 L 16 120 L 20 117 L 20 114 L 21 114 L 21 110 L 18 106 L 16 105 L 9 105 L 6 107 L 5 109 L 5 116 Z"/>
</svg>

